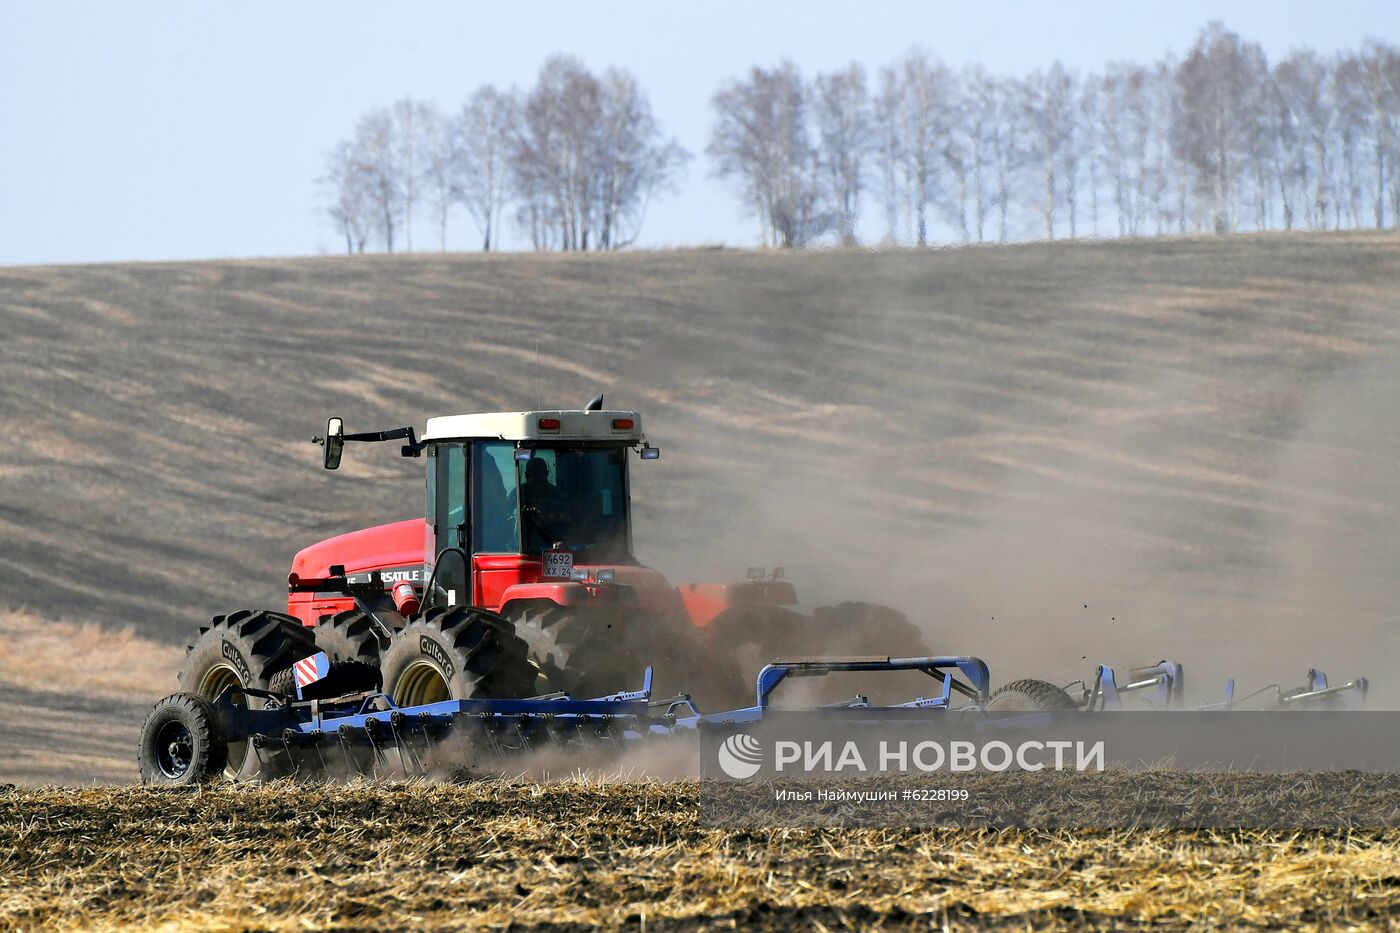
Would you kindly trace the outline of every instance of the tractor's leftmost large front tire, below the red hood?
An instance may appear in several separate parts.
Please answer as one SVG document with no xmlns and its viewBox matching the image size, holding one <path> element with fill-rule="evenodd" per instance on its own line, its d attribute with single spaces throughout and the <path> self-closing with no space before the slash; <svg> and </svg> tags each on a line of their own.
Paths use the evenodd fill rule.
<svg viewBox="0 0 1400 933">
<path fill-rule="evenodd" d="M 300 619 L 270 609 L 239 609 L 200 626 L 199 636 L 185 650 L 179 684 L 186 693 L 213 702 L 228 686 L 272 689 L 272 678 L 295 661 L 316 653 L 311 629 Z M 258 709 L 263 699 L 248 698 Z M 251 778 L 259 772 L 258 756 L 248 742 L 228 745 L 230 778 Z"/>
</svg>

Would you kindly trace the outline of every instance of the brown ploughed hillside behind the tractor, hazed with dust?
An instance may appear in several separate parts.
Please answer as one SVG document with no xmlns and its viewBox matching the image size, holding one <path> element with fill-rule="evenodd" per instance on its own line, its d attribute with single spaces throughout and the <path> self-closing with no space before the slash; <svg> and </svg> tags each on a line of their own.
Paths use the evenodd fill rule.
<svg viewBox="0 0 1400 933">
<path fill-rule="evenodd" d="M 1005 675 L 1394 670 L 1396 235 L 6 268 L 0 328 L 0 611 L 181 643 L 421 514 L 326 415 L 605 391 L 673 580 L 781 563 Z"/>
</svg>

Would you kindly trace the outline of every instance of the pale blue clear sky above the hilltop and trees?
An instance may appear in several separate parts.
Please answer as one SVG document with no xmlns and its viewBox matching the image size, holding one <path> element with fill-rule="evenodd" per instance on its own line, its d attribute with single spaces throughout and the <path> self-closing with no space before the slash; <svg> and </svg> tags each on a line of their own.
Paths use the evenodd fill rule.
<svg viewBox="0 0 1400 933">
<path fill-rule="evenodd" d="M 953 66 L 1022 74 L 1058 59 L 1082 71 L 1179 53 L 1211 20 L 1270 60 L 1400 41 L 1396 0 L 6 0 L 0 265 L 339 252 L 316 178 L 364 111 L 400 97 L 456 111 L 480 84 L 529 85 L 554 52 L 633 71 L 693 154 L 637 245 L 755 245 L 756 221 L 704 156 L 711 94 L 753 64 L 875 70 L 920 45 Z M 420 226 L 414 245 L 437 248 L 426 216 Z M 448 248 L 477 245 L 461 214 Z"/>
</svg>

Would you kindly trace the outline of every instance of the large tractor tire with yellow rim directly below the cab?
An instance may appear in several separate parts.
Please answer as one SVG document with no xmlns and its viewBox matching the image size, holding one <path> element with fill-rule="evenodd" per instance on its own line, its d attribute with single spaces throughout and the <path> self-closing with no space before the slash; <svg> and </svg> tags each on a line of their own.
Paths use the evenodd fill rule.
<svg viewBox="0 0 1400 933">
<path fill-rule="evenodd" d="M 398 706 L 533 696 L 538 671 L 511 623 L 486 609 L 433 608 L 399 629 L 379 658 Z"/>
</svg>

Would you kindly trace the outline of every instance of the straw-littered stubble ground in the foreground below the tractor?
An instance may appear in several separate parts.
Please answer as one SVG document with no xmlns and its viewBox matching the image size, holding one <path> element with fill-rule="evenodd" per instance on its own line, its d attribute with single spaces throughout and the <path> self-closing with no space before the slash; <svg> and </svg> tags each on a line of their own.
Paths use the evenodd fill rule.
<svg viewBox="0 0 1400 933">
<path fill-rule="evenodd" d="M 0 790 L 3 929 L 1337 929 L 1400 835 L 706 829 L 694 783 Z"/>
</svg>

